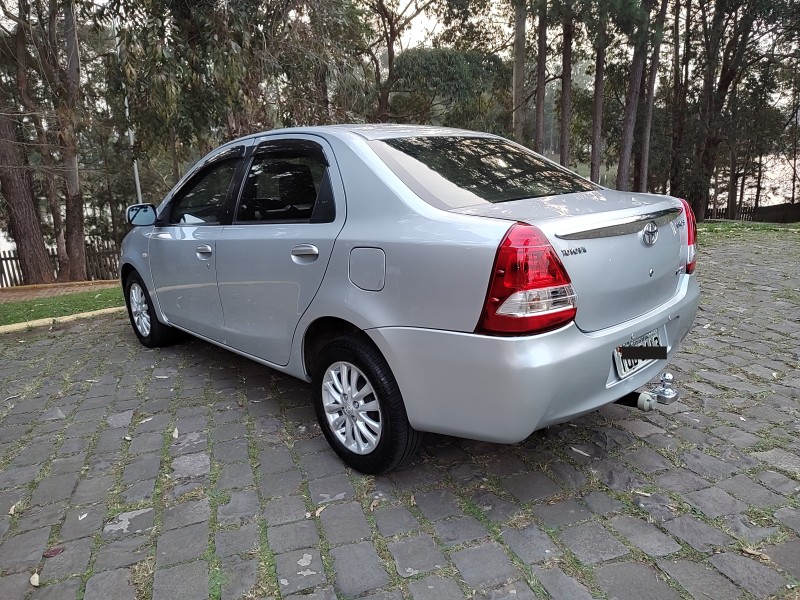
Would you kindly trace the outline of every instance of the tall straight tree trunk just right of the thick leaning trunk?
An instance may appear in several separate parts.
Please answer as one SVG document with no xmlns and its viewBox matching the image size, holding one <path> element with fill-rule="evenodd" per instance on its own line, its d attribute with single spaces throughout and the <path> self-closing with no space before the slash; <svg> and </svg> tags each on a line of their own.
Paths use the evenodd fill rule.
<svg viewBox="0 0 800 600">
<path fill-rule="evenodd" d="M 78 170 L 78 140 L 75 134 L 75 108 L 80 85 L 80 57 L 78 55 L 78 32 L 75 23 L 75 3 L 64 5 L 64 37 L 66 43 L 67 69 L 65 71 L 66 93 L 58 110 L 61 134 L 61 151 L 64 160 L 64 179 L 67 192 L 67 253 L 70 260 L 70 279 L 84 281 L 86 275 L 86 240 L 83 232 L 83 196 L 81 195 Z"/>
</svg>

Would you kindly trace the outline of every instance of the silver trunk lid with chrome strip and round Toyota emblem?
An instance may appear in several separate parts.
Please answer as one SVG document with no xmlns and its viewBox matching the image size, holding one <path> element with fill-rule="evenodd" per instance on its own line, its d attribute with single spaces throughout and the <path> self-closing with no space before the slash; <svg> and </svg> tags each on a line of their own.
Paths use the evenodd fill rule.
<svg viewBox="0 0 800 600">
<path fill-rule="evenodd" d="M 679 200 L 603 190 L 456 212 L 536 225 L 562 260 L 577 293 L 576 325 L 592 332 L 663 304 L 684 270 Z"/>
</svg>

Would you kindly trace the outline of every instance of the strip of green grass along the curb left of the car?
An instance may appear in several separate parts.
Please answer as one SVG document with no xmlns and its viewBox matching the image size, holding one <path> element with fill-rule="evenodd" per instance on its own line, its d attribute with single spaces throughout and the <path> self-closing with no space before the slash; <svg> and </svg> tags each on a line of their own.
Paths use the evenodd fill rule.
<svg viewBox="0 0 800 600">
<path fill-rule="evenodd" d="M 24 323 L 36 319 L 65 317 L 101 308 L 124 306 L 122 290 L 118 287 L 90 292 L 78 292 L 51 298 L 19 300 L 0 304 L 0 325 Z"/>
</svg>

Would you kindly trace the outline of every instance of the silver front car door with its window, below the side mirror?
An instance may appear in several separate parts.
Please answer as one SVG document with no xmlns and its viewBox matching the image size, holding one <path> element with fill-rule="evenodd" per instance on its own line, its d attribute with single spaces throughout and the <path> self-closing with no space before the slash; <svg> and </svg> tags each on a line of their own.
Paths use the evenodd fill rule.
<svg viewBox="0 0 800 600">
<path fill-rule="evenodd" d="M 159 306 L 170 323 L 220 341 L 216 242 L 244 147 L 212 157 L 166 205 L 148 252 Z"/>
</svg>

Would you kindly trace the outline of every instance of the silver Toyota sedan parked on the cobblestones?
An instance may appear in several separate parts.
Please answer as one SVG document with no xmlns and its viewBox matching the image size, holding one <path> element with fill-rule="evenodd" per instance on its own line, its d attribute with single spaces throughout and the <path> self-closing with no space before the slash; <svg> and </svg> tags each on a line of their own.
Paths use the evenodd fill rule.
<svg viewBox="0 0 800 600">
<path fill-rule="evenodd" d="M 684 200 L 602 188 L 500 137 L 343 125 L 251 135 L 128 209 L 145 346 L 175 330 L 312 384 L 365 473 L 421 432 L 518 442 L 666 364 L 697 311 Z"/>
</svg>

